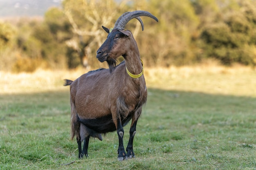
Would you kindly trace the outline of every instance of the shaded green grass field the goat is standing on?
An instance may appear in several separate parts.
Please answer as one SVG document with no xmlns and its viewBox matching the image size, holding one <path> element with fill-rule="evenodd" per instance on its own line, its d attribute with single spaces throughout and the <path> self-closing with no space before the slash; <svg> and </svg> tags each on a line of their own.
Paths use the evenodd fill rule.
<svg viewBox="0 0 256 170">
<path fill-rule="evenodd" d="M 70 140 L 69 88 L 0 94 L 0 170 L 255 170 L 252 96 L 149 84 L 134 139 L 136 158 L 119 162 L 116 132 L 103 141 L 91 139 L 89 158 L 78 159 L 76 141 Z M 127 145 L 129 125 L 124 130 Z"/>
</svg>

